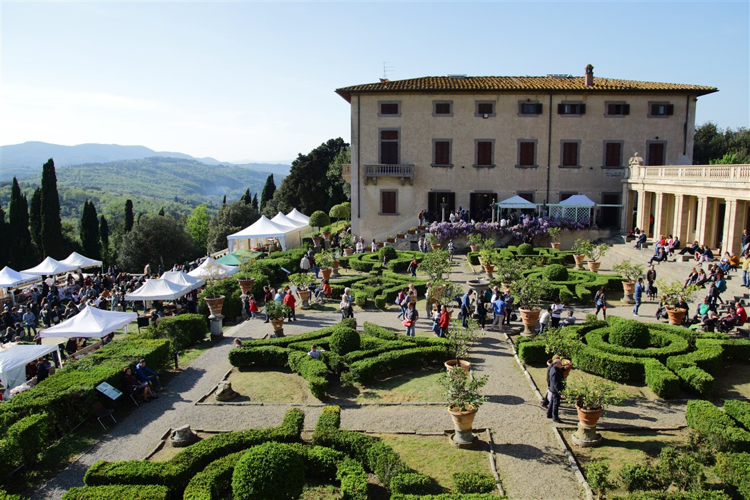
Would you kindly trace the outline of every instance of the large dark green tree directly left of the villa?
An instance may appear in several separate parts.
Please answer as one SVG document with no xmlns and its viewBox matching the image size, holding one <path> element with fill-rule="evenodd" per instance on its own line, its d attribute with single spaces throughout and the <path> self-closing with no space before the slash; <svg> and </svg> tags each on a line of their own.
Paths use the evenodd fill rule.
<svg viewBox="0 0 750 500">
<path fill-rule="evenodd" d="M 347 142 L 339 137 L 324 142 L 308 154 L 299 154 L 292 162 L 289 175 L 281 182 L 273 199 L 263 208 L 263 213 L 273 215 L 281 211 L 286 214 L 297 208 L 303 214 L 311 214 L 317 210 L 327 214 L 333 205 L 345 201 L 331 196 L 330 181 L 326 174 L 339 152 L 348 147 Z"/>
</svg>

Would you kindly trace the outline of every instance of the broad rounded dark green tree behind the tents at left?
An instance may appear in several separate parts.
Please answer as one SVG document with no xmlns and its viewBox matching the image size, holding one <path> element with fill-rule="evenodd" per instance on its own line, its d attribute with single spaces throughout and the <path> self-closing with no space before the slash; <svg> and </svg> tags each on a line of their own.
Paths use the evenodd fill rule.
<svg viewBox="0 0 750 500">
<path fill-rule="evenodd" d="M 200 251 L 190 235 L 172 217 L 142 215 L 133 230 L 122 237 L 118 262 L 123 269 L 140 272 L 146 264 L 156 269 L 195 259 Z"/>
</svg>

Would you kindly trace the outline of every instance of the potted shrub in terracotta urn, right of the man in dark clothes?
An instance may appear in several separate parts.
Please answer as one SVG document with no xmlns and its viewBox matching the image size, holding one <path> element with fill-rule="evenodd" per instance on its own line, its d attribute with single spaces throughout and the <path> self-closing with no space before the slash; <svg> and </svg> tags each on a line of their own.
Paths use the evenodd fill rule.
<svg viewBox="0 0 750 500">
<path fill-rule="evenodd" d="M 596 423 L 607 406 L 622 402 L 619 386 L 603 379 L 572 379 L 562 394 L 575 402 L 578 412 L 578 430 L 572 436 L 573 442 L 579 446 L 598 445 L 601 435 L 596 432 Z"/>
</svg>

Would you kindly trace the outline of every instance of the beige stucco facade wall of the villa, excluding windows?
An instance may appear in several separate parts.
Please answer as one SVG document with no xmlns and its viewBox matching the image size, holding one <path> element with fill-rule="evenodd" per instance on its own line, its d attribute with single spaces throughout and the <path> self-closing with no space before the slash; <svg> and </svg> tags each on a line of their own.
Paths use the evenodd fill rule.
<svg viewBox="0 0 750 500">
<path fill-rule="evenodd" d="M 361 101 L 358 102 L 358 100 Z M 541 115 L 519 116 L 518 101 L 538 101 Z M 401 115 L 379 116 L 382 100 L 401 101 Z M 450 100 L 452 116 L 433 116 L 434 100 Z M 475 101 L 495 103 L 495 116 L 476 117 Z M 574 101 L 586 104 L 581 116 L 557 114 L 557 104 Z M 605 103 L 625 102 L 630 114 L 605 117 Z M 674 113 L 665 118 L 649 118 L 649 102 L 667 102 Z M 646 141 L 666 141 L 666 163 L 690 163 L 694 130 L 694 98 L 685 94 L 362 94 L 353 95 L 352 109 L 352 195 L 354 230 L 371 238 L 383 238 L 416 225 L 416 214 L 428 207 L 428 192 L 455 193 L 456 206 L 469 208 L 469 194 L 496 193 L 498 200 L 518 191 L 535 191 L 534 201 L 547 199 L 547 148 L 550 147 L 550 188 L 548 202 L 559 202 L 560 192 L 577 192 L 601 202 L 602 192 L 619 193 L 625 169 L 603 169 L 604 141 L 622 141 L 622 164 L 635 152 L 646 154 Z M 688 121 L 688 143 L 683 144 L 683 124 Z M 550 112 L 551 141 L 550 137 Z M 359 114 L 358 114 L 359 113 Z M 400 163 L 414 166 L 413 185 L 398 178 L 378 178 L 365 184 L 361 165 L 380 163 L 379 130 L 400 130 Z M 361 138 L 359 134 L 361 133 Z M 658 139 L 657 139 L 658 138 Z M 360 140 L 361 139 L 361 140 Z M 433 139 L 452 141 L 452 168 L 432 167 Z M 472 166 L 475 139 L 493 139 L 493 168 Z M 536 168 L 518 168 L 518 139 L 537 141 Z M 580 140 L 580 168 L 561 168 L 561 140 Z M 688 152 L 688 156 L 683 155 Z M 359 178 L 358 178 L 359 175 Z M 359 185 L 358 185 L 359 184 Z M 398 215 L 380 216 L 380 191 L 398 190 Z M 359 215 L 359 217 L 358 217 Z"/>
</svg>

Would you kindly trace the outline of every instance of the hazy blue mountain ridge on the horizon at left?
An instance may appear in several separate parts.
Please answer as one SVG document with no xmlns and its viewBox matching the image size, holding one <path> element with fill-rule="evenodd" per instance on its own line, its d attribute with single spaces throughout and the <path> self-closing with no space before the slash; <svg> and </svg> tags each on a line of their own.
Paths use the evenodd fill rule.
<svg viewBox="0 0 750 500">
<path fill-rule="evenodd" d="M 65 146 L 48 142 L 24 142 L 0 146 L 1 181 L 8 181 L 13 176 L 22 178 L 40 174 L 42 165 L 49 158 L 55 160 L 55 167 L 82 165 L 84 163 L 110 163 L 120 160 L 141 160 L 149 157 L 169 157 L 183 160 L 195 160 L 205 165 L 231 165 L 215 158 L 195 158 L 189 154 L 169 151 L 154 151 L 145 146 L 124 146 L 118 144 L 79 144 Z M 279 163 L 243 163 L 243 169 L 256 172 L 269 172 L 276 175 L 287 175 L 290 165 Z"/>
</svg>

